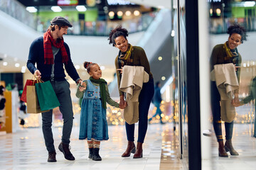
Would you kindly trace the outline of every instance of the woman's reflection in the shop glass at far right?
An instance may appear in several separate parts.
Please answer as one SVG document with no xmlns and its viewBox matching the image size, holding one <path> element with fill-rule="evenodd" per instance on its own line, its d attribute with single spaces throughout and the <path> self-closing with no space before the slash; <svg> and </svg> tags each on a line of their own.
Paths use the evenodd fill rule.
<svg viewBox="0 0 256 170">
<path fill-rule="evenodd" d="M 246 40 L 246 30 L 238 24 L 234 24 L 228 28 L 227 33 L 229 34 L 228 41 L 224 44 L 215 45 L 213 52 L 210 57 L 210 67 L 213 70 L 215 64 L 235 64 L 236 75 L 238 82 L 240 81 L 240 65 L 242 62 L 241 55 L 238 53 L 238 45 L 242 44 Z M 233 125 L 225 122 L 225 145 L 223 143 L 222 130 L 221 130 L 221 119 L 220 119 L 220 94 L 218 92 L 215 81 L 211 81 L 211 108 L 213 113 L 213 128 L 218 141 L 219 157 L 228 157 L 227 152 L 231 155 L 238 155 L 232 145 Z M 238 99 L 239 89 L 235 90 L 234 103 L 239 103 Z"/>
</svg>

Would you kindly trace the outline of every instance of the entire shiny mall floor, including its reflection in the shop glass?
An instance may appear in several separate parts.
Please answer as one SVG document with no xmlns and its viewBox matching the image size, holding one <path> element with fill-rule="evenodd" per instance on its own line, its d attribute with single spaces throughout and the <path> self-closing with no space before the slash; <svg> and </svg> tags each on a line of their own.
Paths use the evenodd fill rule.
<svg viewBox="0 0 256 170">
<path fill-rule="evenodd" d="M 60 143 L 61 130 L 62 128 L 53 128 L 55 148 Z M 78 140 L 78 132 L 79 128 L 75 126 L 70 143 L 75 161 L 64 159 L 63 154 L 56 149 L 55 163 L 47 162 L 48 152 L 43 142 L 41 128 L 26 128 L 0 135 L 0 169 L 187 169 L 186 159 L 178 159 L 178 132 L 173 131 L 172 123 L 149 125 L 142 159 L 132 159 L 132 156 L 121 157 L 127 146 L 124 126 L 109 126 L 110 140 L 100 145 L 101 162 L 87 159 L 87 144 Z M 220 158 L 217 142 L 213 142 L 213 157 L 211 160 L 203 160 L 202 169 L 255 169 L 256 138 L 250 135 L 250 125 L 235 124 L 233 144 L 240 155 Z"/>
</svg>

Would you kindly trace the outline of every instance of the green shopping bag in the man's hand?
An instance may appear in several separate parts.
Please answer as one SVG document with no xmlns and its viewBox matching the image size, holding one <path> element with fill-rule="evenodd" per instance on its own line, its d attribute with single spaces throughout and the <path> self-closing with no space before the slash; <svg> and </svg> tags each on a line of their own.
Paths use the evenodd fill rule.
<svg viewBox="0 0 256 170">
<path fill-rule="evenodd" d="M 50 81 L 36 84 L 36 94 L 38 96 L 41 111 L 50 110 L 60 106 L 60 102 L 58 101 Z"/>
</svg>

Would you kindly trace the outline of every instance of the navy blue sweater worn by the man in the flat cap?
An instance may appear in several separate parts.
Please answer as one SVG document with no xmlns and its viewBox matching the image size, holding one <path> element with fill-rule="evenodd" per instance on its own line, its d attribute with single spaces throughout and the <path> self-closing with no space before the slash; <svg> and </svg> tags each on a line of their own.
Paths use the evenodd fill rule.
<svg viewBox="0 0 256 170">
<path fill-rule="evenodd" d="M 64 64 L 62 62 L 62 55 L 61 51 L 59 50 L 57 55 L 55 55 L 54 60 L 54 79 L 55 81 L 63 81 L 65 80 L 65 72 L 63 68 L 63 64 L 65 66 L 66 72 L 68 72 L 68 75 L 74 80 L 77 81 L 80 79 L 78 76 L 78 72 L 76 71 L 74 64 L 70 58 L 70 49 L 68 45 L 64 42 L 65 50 L 68 53 L 68 64 Z M 36 63 L 36 67 L 35 67 Z M 41 79 L 43 81 L 50 80 L 50 74 L 51 74 L 51 64 L 44 64 L 44 51 L 43 51 L 43 37 L 36 38 L 31 44 L 31 47 L 29 49 L 29 55 L 28 55 L 28 62 L 27 62 L 28 70 L 34 74 L 36 69 L 38 69 L 41 72 Z"/>
</svg>

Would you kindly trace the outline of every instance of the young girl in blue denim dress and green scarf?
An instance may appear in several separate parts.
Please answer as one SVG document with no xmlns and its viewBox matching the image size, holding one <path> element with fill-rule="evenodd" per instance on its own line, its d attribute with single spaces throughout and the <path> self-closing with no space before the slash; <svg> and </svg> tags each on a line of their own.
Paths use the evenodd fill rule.
<svg viewBox="0 0 256 170">
<path fill-rule="evenodd" d="M 99 65 L 85 62 L 84 67 L 90 74 L 90 79 L 79 84 L 76 93 L 78 98 L 82 98 L 79 140 L 87 139 L 90 151 L 89 159 L 101 161 L 100 141 L 109 139 L 106 102 L 117 108 L 119 108 L 119 104 L 110 98 L 105 79 L 100 79 L 102 70 Z"/>
</svg>

